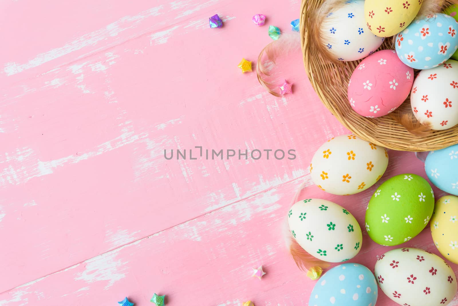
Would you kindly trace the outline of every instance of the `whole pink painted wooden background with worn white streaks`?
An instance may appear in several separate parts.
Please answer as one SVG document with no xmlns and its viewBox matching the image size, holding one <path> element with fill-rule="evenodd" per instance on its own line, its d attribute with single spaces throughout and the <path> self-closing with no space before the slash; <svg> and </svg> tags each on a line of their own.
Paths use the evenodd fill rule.
<svg viewBox="0 0 458 306">
<path fill-rule="evenodd" d="M 299 50 L 267 94 L 256 60 L 299 17 L 299 0 L 0 2 L 0 305 L 306 305 L 314 282 L 284 250 L 297 187 L 348 208 L 364 228 L 370 190 L 331 196 L 307 170 L 347 131 L 319 102 Z M 218 13 L 224 27 L 210 29 Z M 295 149 L 295 160 L 166 160 L 164 149 Z M 381 180 L 425 177 L 390 152 Z M 436 196 L 441 193 L 435 189 Z M 403 246 L 434 251 L 425 230 Z M 355 262 L 389 248 L 364 233 Z M 263 264 L 267 275 L 251 278 Z M 453 265 L 455 272 L 458 267 Z M 377 305 L 394 305 L 380 291 Z M 450 305 L 458 305 L 456 299 Z"/>
</svg>

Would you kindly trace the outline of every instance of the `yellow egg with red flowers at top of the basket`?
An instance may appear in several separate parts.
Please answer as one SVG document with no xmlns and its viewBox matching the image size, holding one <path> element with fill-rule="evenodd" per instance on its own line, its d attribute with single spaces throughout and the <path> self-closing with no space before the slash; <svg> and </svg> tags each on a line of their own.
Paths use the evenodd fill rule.
<svg viewBox="0 0 458 306">
<path fill-rule="evenodd" d="M 421 1 L 366 0 L 364 16 L 372 33 L 390 37 L 407 27 L 420 7 Z"/>
</svg>

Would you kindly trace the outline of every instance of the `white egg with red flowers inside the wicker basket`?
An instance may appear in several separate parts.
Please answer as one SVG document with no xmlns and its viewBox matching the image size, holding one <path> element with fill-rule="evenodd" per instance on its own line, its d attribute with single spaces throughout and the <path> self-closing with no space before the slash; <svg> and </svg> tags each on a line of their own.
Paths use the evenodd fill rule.
<svg viewBox="0 0 458 306">
<path fill-rule="evenodd" d="M 410 106 L 415 118 L 433 130 L 446 130 L 456 126 L 458 62 L 447 60 L 441 66 L 420 71 L 412 87 Z"/>
</svg>

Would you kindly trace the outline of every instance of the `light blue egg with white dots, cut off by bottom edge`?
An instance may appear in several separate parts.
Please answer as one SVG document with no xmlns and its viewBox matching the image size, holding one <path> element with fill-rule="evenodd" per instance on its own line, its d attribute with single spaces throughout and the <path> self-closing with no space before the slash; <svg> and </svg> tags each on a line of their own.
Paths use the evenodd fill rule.
<svg viewBox="0 0 458 306">
<path fill-rule="evenodd" d="M 368 268 L 344 263 L 318 279 L 309 306 L 375 306 L 377 295 L 377 282 Z"/>
</svg>

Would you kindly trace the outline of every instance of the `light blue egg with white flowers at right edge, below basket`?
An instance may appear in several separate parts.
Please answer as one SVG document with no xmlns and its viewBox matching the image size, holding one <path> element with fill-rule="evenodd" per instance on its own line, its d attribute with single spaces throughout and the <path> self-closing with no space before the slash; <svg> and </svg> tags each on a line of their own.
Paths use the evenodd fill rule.
<svg viewBox="0 0 458 306">
<path fill-rule="evenodd" d="M 437 188 L 458 196 L 458 144 L 431 151 L 425 160 L 425 171 Z"/>
</svg>

